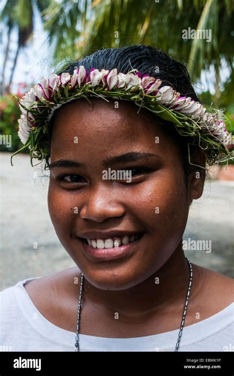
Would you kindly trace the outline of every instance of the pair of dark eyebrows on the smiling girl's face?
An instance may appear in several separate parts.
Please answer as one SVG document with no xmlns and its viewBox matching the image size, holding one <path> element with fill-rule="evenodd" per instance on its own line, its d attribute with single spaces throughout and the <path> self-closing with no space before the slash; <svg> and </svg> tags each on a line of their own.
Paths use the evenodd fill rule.
<svg viewBox="0 0 234 376">
<path fill-rule="evenodd" d="M 103 161 L 102 164 L 104 167 L 108 167 L 117 163 L 134 162 L 148 157 L 160 158 L 157 154 L 152 153 L 129 152 L 115 157 L 108 157 Z M 55 167 L 85 167 L 85 165 L 76 161 L 60 159 L 51 163 L 49 169 Z"/>
</svg>

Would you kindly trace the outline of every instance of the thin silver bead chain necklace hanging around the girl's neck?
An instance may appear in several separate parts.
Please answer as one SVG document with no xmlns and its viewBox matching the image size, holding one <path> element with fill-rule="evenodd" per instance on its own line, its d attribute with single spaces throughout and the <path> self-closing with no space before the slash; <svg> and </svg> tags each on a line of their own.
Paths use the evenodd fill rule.
<svg viewBox="0 0 234 376">
<path fill-rule="evenodd" d="M 183 316 L 182 316 L 182 321 L 181 321 L 181 326 L 180 326 L 180 331 L 179 331 L 175 351 L 178 351 L 178 348 L 179 348 L 179 345 L 180 345 L 181 334 L 182 334 L 182 330 L 183 330 L 184 325 L 185 325 L 185 316 L 186 316 L 186 312 L 187 312 L 190 290 L 191 290 L 192 279 L 193 279 L 193 268 L 192 268 L 191 262 L 187 257 L 185 257 L 185 258 L 187 259 L 187 261 L 189 263 L 189 267 L 190 267 L 190 280 L 189 280 L 189 288 L 188 288 L 188 292 L 187 292 L 187 296 L 186 296 L 185 308 L 184 308 L 184 313 L 183 313 Z M 83 279 L 84 279 L 84 276 L 83 276 L 83 274 L 81 274 L 80 290 L 79 290 L 79 303 L 78 303 L 78 312 L 77 312 L 76 344 L 75 344 L 75 348 L 74 348 L 75 351 L 79 351 L 79 316 L 80 316 L 82 292 L 83 292 Z"/>
</svg>

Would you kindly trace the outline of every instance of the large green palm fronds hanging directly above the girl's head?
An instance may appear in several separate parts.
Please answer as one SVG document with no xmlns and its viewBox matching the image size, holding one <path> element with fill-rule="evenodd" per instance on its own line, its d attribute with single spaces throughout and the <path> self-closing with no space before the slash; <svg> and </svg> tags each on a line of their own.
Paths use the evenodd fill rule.
<svg viewBox="0 0 234 376">
<path fill-rule="evenodd" d="M 221 62 L 226 62 L 230 72 L 233 69 L 232 1 L 63 0 L 52 1 L 45 12 L 44 27 L 49 41 L 55 40 L 55 64 L 97 48 L 152 44 L 187 64 L 194 78 L 213 64 L 217 100 Z M 189 27 L 211 30 L 211 41 L 183 39 L 183 30 Z"/>
</svg>

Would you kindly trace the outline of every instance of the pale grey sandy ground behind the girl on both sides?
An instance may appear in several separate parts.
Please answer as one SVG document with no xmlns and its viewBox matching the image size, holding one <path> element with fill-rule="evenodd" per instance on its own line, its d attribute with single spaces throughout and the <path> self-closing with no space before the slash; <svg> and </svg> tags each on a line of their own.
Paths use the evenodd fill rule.
<svg viewBox="0 0 234 376">
<path fill-rule="evenodd" d="M 31 167 L 27 155 L 16 155 L 13 164 L 11 167 L 10 154 L 0 153 L 0 290 L 75 266 L 49 217 L 48 177 L 41 177 L 41 167 Z M 233 187 L 231 181 L 206 183 L 202 197 L 191 206 L 184 234 L 184 240 L 206 240 L 207 245 L 211 241 L 211 251 L 185 251 L 191 262 L 232 277 Z"/>
</svg>

